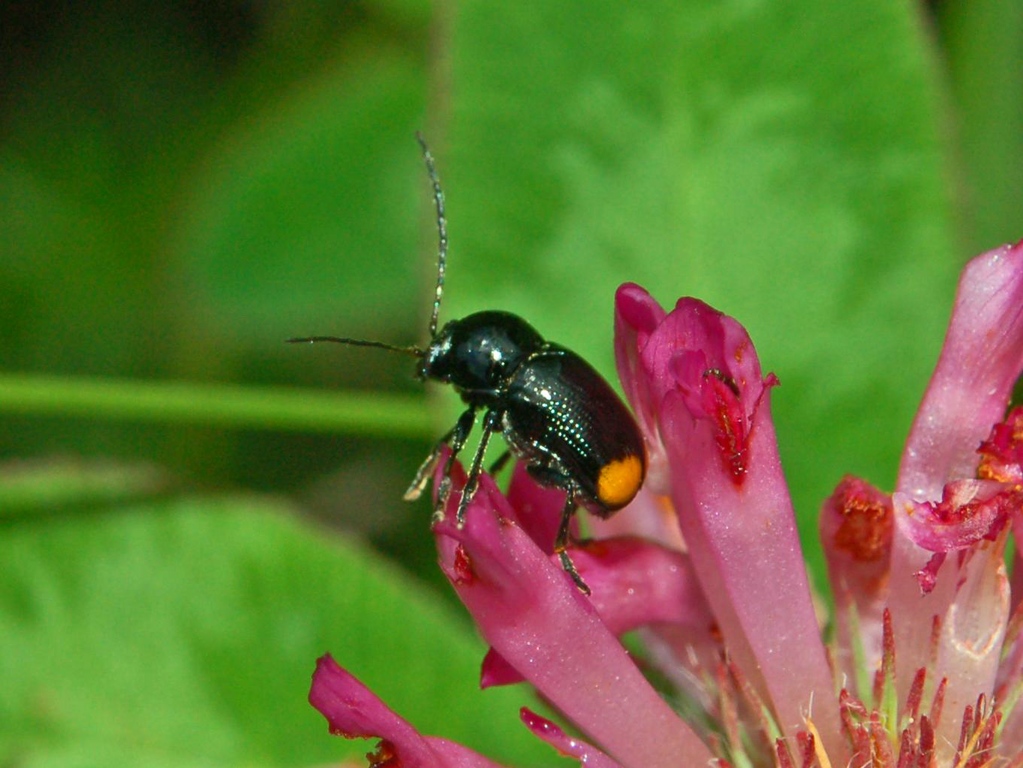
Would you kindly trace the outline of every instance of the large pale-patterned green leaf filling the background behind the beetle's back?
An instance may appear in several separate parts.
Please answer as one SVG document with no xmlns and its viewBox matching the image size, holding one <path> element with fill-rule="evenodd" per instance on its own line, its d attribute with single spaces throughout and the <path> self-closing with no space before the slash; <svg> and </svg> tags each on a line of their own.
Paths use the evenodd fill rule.
<svg viewBox="0 0 1023 768">
<path fill-rule="evenodd" d="M 445 311 L 520 313 L 610 373 L 617 284 L 699 297 L 783 382 L 808 532 L 844 472 L 890 486 L 961 262 L 916 12 L 462 4 Z"/>
</svg>

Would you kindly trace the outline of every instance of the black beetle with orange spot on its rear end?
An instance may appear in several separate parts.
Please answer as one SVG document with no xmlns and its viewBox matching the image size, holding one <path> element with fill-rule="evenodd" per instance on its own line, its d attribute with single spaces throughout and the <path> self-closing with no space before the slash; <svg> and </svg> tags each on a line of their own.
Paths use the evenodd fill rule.
<svg viewBox="0 0 1023 768">
<path fill-rule="evenodd" d="M 438 330 L 444 271 L 447 264 L 447 219 L 444 193 L 433 155 L 416 134 L 437 211 L 437 285 L 426 348 L 398 347 L 341 336 L 288 338 L 288 343 L 332 342 L 375 347 L 419 359 L 416 377 L 450 385 L 465 410 L 427 456 L 405 492 L 418 498 L 450 448 L 437 489 L 435 521 L 443 517 L 451 489 L 451 467 L 483 412 L 482 435 L 473 456 L 455 524 L 465 523 L 465 510 L 479 487 L 487 446 L 500 432 L 510 455 L 541 486 L 565 492 L 554 552 L 562 567 L 584 593 L 589 588 L 568 554 L 569 527 L 578 506 L 599 517 L 610 517 L 639 491 L 647 473 L 647 455 L 635 419 L 611 386 L 582 357 L 547 342 L 529 323 L 509 312 L 488 310 L 450 320 Z M 505 452 L 495 466 L 503 464 Z"/>
</svg>

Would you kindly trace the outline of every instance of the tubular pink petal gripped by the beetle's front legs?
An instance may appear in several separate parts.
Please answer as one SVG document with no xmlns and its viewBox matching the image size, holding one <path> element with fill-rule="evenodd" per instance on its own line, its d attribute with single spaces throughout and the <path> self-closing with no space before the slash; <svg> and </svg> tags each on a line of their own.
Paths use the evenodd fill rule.
<svg viewBox="0 0 1023 768">
<path fill-rule="evenodd" d="M 484 477 L 465 527 L 435 527 L 442 568 L 484 639 L 623 766 L 709 760 L 568 575 L 503 511 Z"/>
</svg>

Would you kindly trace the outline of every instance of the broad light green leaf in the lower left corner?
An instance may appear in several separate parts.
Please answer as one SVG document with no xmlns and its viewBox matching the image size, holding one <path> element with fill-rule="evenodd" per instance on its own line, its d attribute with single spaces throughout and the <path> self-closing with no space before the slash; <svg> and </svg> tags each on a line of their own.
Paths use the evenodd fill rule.
<svg viewBox="0 0 1023 768">
<path fill-rule="evenodd" d="M 425 733 L 549 762 L 516 722 L 523 691 L 478 690 L 484 648 L 461 615 L 286 505 L 61 508 L 0 514 L 0 763 L 361 762 L 372 743 L 329 736 L 306 702 L 325 651 Z"/>
</svg>

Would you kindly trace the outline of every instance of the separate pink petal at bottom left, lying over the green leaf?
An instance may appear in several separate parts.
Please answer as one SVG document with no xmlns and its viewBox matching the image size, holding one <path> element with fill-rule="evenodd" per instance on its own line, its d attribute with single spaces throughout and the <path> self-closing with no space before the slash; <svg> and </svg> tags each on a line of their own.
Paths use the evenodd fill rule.
<svg viewBox="0 0 1023 768">
<path fill-rule="evenodd" d="M 316 662 L 309 703 L 326 718 L 331 733 L 383 739 L 381 749 L 392 751 L 401 768 L 499 768 L 460 744 L 419 734 L 329 656 Z"/>
</svg>

